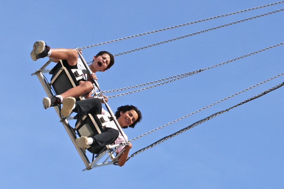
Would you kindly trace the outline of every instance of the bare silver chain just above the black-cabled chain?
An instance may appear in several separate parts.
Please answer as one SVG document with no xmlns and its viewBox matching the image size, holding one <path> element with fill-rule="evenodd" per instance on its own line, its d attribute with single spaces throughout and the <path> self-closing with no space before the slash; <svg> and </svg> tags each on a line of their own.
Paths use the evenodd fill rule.
<svg viewBox="0 0 284 189">
<path fill-rule="evenodd" d="M 238 94 L 241 94 L 241 93 L 246 92 L 246 91 L 248 91 L 248 90 L 250 90 L 250 89 L 253 89 L 254 87 L 257 87 L 257 86 L 259 86 L 259 85 L 261 85 L 261 84 L 264 84 L 264 83 L 266 83 L 266 82 L 268 82 L 268 81 L 271 81 L 272 79 L 275 79 L 275 78 L 277 78 L 277 77 L 279 77 L 279 76 L 282 76 L 282 75 L 284 75 L 284 73 L 279 74 L 279 75 L 277 75 L 277 76 L 274 76 L 274 77 L 272 77 L 272 78 L 270 78 L 270 79 L 267 79 L 267 80 L 265 80 L 265 81 L 263 81 L 263 82 L 260 82 L 260 83 L 258 83 L 258 84 L 256 84 L 256 85 L 254 85 L 254 86 L 252 86 L 252 87 L 249 87 L 249 88 L 247 88 L 247 89 L 244 89 L 244 90 L 242 90 L 242 91 L 240 91 L 240 92 L 237 92 L 237 93 L 235 93 L 235 94 L 232 94 L 232 95 L 229 96 L 229 97 L 226 97 L 226 98 L 224 98 L 224 99 L 222 99 L 222 100 L 219 100 L 219 101 L 217 101 L 217 102 L 214 102 L 213 104 L 210 104 L 210 105 L 208 105 L 208 106 L 205 106 L 205 107 L 203 107 L 203 108 L 201 108 L 201 109 L 199 109 L 199 110 L 196 110 L 196 111 L 194 111 L 194 112 L 192 112 L 192 113 L 190 113 L 190 114 L 187 114 L 187 115 L 185 115 L 185 116 L 183 116 L 183 117 L 181 117 L 181 118 L 178 118 L 178 119 L 176 119 L 176 120 L 174 120 L 174 121 L 172 121 L 172 122 L 170 122 L 170 123 L 167 123 L 167 124 L 165 124 L 165 125 L 163 125 L 163 126 L 161 126 L 161 127 L 156 128 L 156 129 L 154 129 L 154 130 L 152 130 L 152 131 L 149 131 L 149 132 L 144 133 L 144 134 L 142 134 L 142 135 L 140 135 L 140 136 L 137 136 L 137 137 L 135 137 L 134 139 L 131 139 L 130 142 L 132 142 L 132 141 L 134 141 L 134 140 L 136 140 L 136 139 L 139 139 L 139 138 L 141 138 L 142 136 L 148 135 L 148 134 L 150 134 L 150 133 L 152 133 L 152 132 L 154 132 L 154 131 L 157 131 L 157 130 L 159 130 L 159 129 L 161 129 L 161 128 L 164 128 L 164 127 L 166 127 L 166 126 L 168 126 L 168 125 L 170 125 L 170 124 L 172 124 L 172 123 L 175 123 L 175 122 L 177 122 L 177 121 L 179 121 L 179 120 L 182 120 L 182 119 L 184 119 L 184 118 L 187 118 L 187 117 L 189 117 L 189 116 L 191 116 L 191 115 L 193 115 L 193 114 L 195 114 L 195 113 L 197 113 L 197 112 L 200 112 L 200 111 L 205 110 L 205 109 L 207 109 L 207 108 L 209 108 L 209 107 L 211 107 L 211 106 L 214 106 L 214 105 L 216 105 L 216 104 L 218 104 L 218 103 L 220 103 L 220 102 L 222 102 L 222 101 L 225 101 L 225 100 L 227 100 L 227 99 L 229 99 L 229 98 L 232 98 L 232 97 L 234 97 L 234 96 L 237 96 Z"/>
</svg>

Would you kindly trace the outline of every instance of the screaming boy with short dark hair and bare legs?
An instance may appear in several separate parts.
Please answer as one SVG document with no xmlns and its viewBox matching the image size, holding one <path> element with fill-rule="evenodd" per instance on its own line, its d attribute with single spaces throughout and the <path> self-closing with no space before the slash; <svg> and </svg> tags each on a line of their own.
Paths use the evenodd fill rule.
<svg viewBox="0 0 284 189">
<path fill-rule="evenodd" d="M 39 58 L 50 57 L 58 60 L 62 60 L 63 65 L 67 69 L 86 69 L 81 61 L 78 61 L 78 52 L 75 49 L 51 49 L 46 45 L 44 41 L 37 41 L 33 44 L 33 50 L 30 53 L 33 61 L 36 61 Z M 111 53 L 107 51 L 101 51 L 96 56 L 93 57 L 93 62 L 89 66 L 93 72 L 90 75 L 83 75 L 79 85 L 73 87 L 66 92 L 52 97 L 43 98 L 43 107 L 46 109 L 48 107 L 59 105 L 66 97 L 75 97 L 78 98 L 82 95 L 85 95 L 85 98 L 90 97 L 97 90 L 93 79 L 97 80 L 95 72 L 97 71 L 106 71 L 114 64 L 114 57 Z"/>
</svg>

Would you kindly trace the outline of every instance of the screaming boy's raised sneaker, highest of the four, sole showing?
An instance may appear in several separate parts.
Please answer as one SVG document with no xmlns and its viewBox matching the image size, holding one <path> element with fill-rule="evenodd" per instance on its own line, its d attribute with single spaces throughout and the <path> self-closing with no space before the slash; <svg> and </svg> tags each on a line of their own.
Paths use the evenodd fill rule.
<svg viewBox="0 0 284 189">
<path fill-rule="evenodd" d="M 33 50 L 30 52 L 30 57 L 33 61 L 36 61 L 38 58 L 44 58 L 48 55 L 50 47 L 44 43 L 44 41 L 37 41 L 33 44 Z"/>
</svg>

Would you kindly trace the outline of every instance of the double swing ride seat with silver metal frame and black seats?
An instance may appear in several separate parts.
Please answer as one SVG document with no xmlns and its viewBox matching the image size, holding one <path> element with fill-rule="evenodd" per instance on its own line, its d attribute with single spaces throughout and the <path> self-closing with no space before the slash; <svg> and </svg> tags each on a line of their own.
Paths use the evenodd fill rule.
<svg viewBox="0 0 284 189">
<path fill-rule="evenodd" d="M 72 71 L 75 72 L 75 70 L 69 71 L 64 66 L 64 63 L 62 62 L 62 60 L 60 60 L 56 64 L 56 66 L 54 66 L 53 69 L 46 69 L 46 66 L 48 66 L 49 63 L 51 63 L 52 59 L 53 58 L 47 61 L 41 67 L 41 69 L 38 69 L 37 71 L 35 71 L 35 73 L 31 74 L 31 75 L 38 76 L 38 79 L 40 80 L 44 90 L 46 91 L 46 94 L 49 97 L 53 95 L 57 95 L 57 94 L 62 94 L 63 92 L 66 92 L 68 89 L 71 89 L 72 87 L 76 87 L 79 84 L 76 79 L 78 77 L 72 74 L 73 73 Z M 78 58 L 78 60 L 81 61 L 80 58 Z M 46 81 L 45 77 L 43 76 L 43 73 L 52 74 L 50 83 Z M 51 86 L 53 87 L 54 92 L 56 94 L 53 94 L 53 92 L 51 91 Z M 84 97 L 79 97 L 76 100 L 83 100 L 83 99 Z M 87 146 L 88 151 L 90 151 L 93 154 L 97 154 L 96 159 L 94 159 L 93 162 L 91 163 L 85 154 L 85 150 L 76 146 L 75 139 L 77 137 L 76 137 L 75 132 L 77 132 L 79 136 L 87 136 L 87 137 L 101 133 L 102 126 L 101 126 L 101 122 L 99 118 L 93 117 L 91 114 L 85 115 L 83 116 L 81 120 L 77 121 L 77 124 L 73 128 L 69 125 L 67 121 L 68 119 L 71 119 L 71 118 L 70 117 L 62 118 L 61 113 L 60 113 L 61 108 L 59 108 L 59 106 L 55 106 L 54 109 L 56 110 L 60 118 L 60 122 L 62 122 L 64 128 L 66 129 L 68 135 L 70 136 L 70 139 L 72 140 L 75 148 L 77 149 L 80 157 L 82 158 L 86 166 L 84 170 L 90 170 L 93 167 L 105 166 L 105 165 L 114 164 L 115 162 L 117 162 L 118 158 L 123 153 L 123 151 L 121 151 L 116 157 L 114 157 L 114 151 L 117 147 L 122 146 L 122 144 L 106 145 L 103 148 L 95 148 L 95 147 Z M 104 162 L 99 163 L 99 160 L 102 157 L 104 157 L 105 154 L 108 154 L 108 157 L 104 160 Z M 107 161 L 108 159 L 110 159 L 111 161 Z"/>
</svg>

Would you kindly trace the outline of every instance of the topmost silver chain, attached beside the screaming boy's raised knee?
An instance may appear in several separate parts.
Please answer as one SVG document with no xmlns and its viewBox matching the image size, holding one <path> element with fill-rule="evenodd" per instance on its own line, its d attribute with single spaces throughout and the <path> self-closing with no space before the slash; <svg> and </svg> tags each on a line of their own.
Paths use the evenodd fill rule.
<svg viewBox="0 0 284 189">
<path fill-rule="evenodd" d="M 112 43 L 112 42 L 121 41 L 121 40 L 125 40 L 125 39 L 135 38 L 135 37 L 139 37 L 139 36 L 143 36 L 143 35 L 147 35 L 147 34 L 151 34 L 151 33 L 161 32 L 161 31 L 164 31 L 164 30 L 170 30 L 170 29 L 177 28 L 177 27 L 191 25 L 191 24 L 195 24 L 195 23 L 199 23 L 199 22 L 203 22 L 203 21 L 207 21 L 207 20 L 211 20 L 211 19 L 215 19 L 215 18 L 221 18 L 221 17 L 233 15 L 233 14 L 238 14 L 238 13 L 241 13 L 241 12 L 254 10 L 254 9 L 260 9 L 260 8 L 263 8 L 263 7 L 266 7 L 266 6 L 272 6 L 272 5 L 276 5 L 276 4 L 280 4 L 280 3 L 284 3 L 284 1 L 279 1 L 279 2 L 276 2 L 276 3 L 262 5 L 262 6 L 258 6 L 258 7 L 254 7 L 254 8 L 250 8 L 250 9 L 246 9 L 246 10 L 242 10 L 242 11 L 232 12 L 232 13 L 228 13 L 228 14 L 224 14 L 224 15 L 220 15 L 220 16 L 216 16 L 216 17 L 206 18 L 206 19 L 202 19 L 202 20 L 198 20 L 198 21 L 194 21 L 194 22 L 189 22 L 189 23 L 185 23 L 185 24 L 181 24 L 181 25 L 177 25 L 177 26 L 167 27 L 167 28 L 160 29 L 160 30 L 154 30 L 154 31 L 151 31 L 151 32 L 145 32 L 145 33 L 141 33 L 141 34 L 138 34 L 138 35 L 132 35 L 132 36 L 125 37 L 125 38 L 110 40 L 110 41 L 106 41 L 106 42 L 103 42 L 103 43 L 97 43 L 97 44 L 94 44 L 94 45 L 81 47 L 80 49 L 90 48 L 90 47 L 95 47 L 95 46 L 99 46 L 99 45 L 104 45 L 104 44 L 107 44 L 107 43 Z"/>
</svg>

